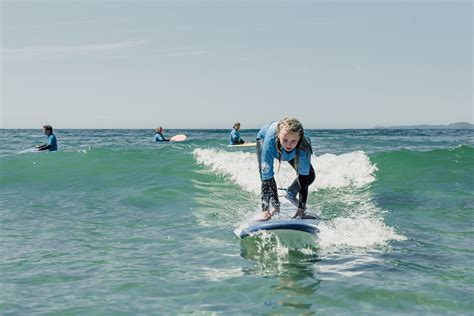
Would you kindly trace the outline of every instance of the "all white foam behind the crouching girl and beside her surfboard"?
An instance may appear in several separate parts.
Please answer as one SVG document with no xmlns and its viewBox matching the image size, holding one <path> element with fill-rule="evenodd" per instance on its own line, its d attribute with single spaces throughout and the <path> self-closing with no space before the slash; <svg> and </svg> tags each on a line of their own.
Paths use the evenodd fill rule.
<svg viewBox="0 0 474 316">
<path fill-rule="evenodd" d="M 212 172 L 228 177 L 243 190 L 260 194 L 260 179 L 256 154 L 226 152 L 215 149 L 196 149 L 193 152 L 198 163 Z M 324 154 L 312 156 L 316 180 L 310 192 L 320 189 L 335 189 L 322 197 L 316 209 L 324 217 L 325 209 L 334 209 L 335 217 L 320 223 L 318 244 L 322 250 L 333 251 L 345 247 L 372 248 L 384 246 L 391 240 L 406 238 L 387 226 L 383 220 L 384 210 L 373 202 L 365 186 L 375 180 L 376 165 L 371 163 L 363 151 L 341 155 Z M 275 169 L 278 162 L 275 161 Z M 295 178 L 291 166 L 282 162 L 275 179 L 278 186 L 288 186 Z M 240 223 L 240 228 L 248 225 L 250 218 Z"/>
</svg>

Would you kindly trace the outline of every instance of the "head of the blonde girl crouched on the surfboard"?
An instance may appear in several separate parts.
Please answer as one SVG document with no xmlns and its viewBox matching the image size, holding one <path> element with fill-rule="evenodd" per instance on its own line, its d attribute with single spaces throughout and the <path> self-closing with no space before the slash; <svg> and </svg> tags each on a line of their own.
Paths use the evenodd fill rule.
<svg viewBox="0 0 474 316">
<path fill-rule="evenodd" d="M 277 146 L 290 152 L 301 143 L 304 137 L 303 125 L 294 117 L 285 117 L 281 119 L 275 131 L 277 137 Z"/>
</svg>

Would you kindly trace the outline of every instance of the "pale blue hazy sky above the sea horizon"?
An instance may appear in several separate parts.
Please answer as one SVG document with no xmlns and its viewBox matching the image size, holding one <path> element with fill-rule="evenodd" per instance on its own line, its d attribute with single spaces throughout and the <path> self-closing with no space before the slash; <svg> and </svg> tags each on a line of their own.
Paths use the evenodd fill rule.
<svg viewBox="0 0 474 316">
<path fill-rule="evenodd" d="M 473 122 L 473 3 L 0 0 L 0 128 Z"/>
</svg>

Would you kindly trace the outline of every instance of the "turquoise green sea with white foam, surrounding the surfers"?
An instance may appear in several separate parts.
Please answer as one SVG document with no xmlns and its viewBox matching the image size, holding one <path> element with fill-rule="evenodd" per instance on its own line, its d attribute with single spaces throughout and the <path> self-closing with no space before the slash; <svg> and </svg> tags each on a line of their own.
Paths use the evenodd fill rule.
<svg viewBox="0 0 474 316">
<path fill-rule="evenodd" d="M 316 247 L 234 236 L 259 210 L 228 131 L 0 130 L 0 314 L 474 313 L 474 133 L 311 130 Z M 256 131 L 242 137 L 254 138 Z M 285 163 L 277 175 L 287 185 Z"/>
</svg>

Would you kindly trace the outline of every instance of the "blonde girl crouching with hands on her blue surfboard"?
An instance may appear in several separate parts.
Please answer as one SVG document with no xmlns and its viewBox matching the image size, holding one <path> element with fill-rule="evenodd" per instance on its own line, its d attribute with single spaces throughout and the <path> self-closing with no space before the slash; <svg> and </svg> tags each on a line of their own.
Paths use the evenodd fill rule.
<svg viewBox="0 0 474 316">
<path fill-rule="evenodd" d="M 261 220 L 268 220 L 280 211 L 278 189 L 273 177 L 275 158 L 278 159 L 278 169 L 282 160 L 288 161 L 298 175 L 298 178 L 287 189 L 287 199 L 298 207 L 293 218 L 310 217 L 305 214 L 305 210 L 308 187 L 316 178 L 311 165 L 312 153 L 309 137 L 304 135 L 303 126 L 293 117 L 269 123 L 258 132 L 257 159 L 262 180 Z M 298 193 L 299 200 L 297 200 Z"/>
</svg>

